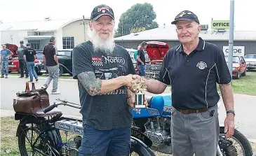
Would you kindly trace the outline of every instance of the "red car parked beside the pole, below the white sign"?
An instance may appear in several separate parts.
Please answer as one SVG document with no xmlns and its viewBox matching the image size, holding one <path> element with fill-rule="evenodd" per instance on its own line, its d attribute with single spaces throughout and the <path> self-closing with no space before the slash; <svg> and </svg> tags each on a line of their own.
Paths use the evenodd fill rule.
<svg viewBox="0 0 256 156">
<path fill-rule="evenodd" d="M 228 56 L 225 56 L 228 64 Z M 232 77 L 239 79 L 241 76 L 246 76 L 247 65 L 243 56 L 233 56 Z"/>
</svg>

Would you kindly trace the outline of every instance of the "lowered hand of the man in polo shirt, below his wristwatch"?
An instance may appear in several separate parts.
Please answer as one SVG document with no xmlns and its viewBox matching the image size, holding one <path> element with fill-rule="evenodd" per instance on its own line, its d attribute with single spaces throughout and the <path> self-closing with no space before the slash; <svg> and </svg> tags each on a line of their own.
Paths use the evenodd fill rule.
<svg viewBox="0 0 256 156">
<path fill-rule="evenodd" d="M 233 136 L 234 135 L 234 129 L 235 129 L 234 114 L 231 114 L 231 113 L 227 114 L 224 125 L 225 125 L 225 127 L 224 127 L 225 136 L 227 138 Z"/>
</svg>

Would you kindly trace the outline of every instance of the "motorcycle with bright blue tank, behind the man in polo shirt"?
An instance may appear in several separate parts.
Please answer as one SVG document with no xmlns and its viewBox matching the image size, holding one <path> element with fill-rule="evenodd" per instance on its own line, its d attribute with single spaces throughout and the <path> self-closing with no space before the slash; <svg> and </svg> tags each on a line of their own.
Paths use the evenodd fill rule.
<svg viewBox="0 0 256 156">
<path fill-rule="evenodd" d="M 170 134 L 171 96 L 158 94 L 147 97 L 149 108 L 133 108 L 133 125 L 152 141 L 151 149 L 159 153 L 172 154 Z M 235 129 L 234 136 L 227 139 L 224 136 L 224 125 L 220 125 L 220 137 L 217 155 L 251 156 L 252 147 L 248 139 Z"/>
</svg>

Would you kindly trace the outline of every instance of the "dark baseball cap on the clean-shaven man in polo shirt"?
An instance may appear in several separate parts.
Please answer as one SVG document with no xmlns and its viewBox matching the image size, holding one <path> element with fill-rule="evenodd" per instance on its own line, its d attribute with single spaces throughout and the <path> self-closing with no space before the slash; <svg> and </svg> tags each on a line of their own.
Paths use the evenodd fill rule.
<svg viewBox="0 0 256 156">
<path fill-rule="evenodd" d="M 199 20 L 198 17 L 196 16 L 196 14 L 194 14 L 193 12 L 189 11 L 189 10 L 184 10 L 181 13 L 179 13 L 174 21 L 172 22 L 172 24 L 176 24 L 176 22 L 178 20 L 187 20 L 187 21 L 195 21 L 199 24 Z"/>
</svg>

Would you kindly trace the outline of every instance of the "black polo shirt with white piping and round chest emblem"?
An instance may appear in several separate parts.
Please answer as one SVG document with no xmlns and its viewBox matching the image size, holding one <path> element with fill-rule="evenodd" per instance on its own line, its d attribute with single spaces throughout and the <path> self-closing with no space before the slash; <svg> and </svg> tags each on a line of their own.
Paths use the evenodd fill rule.
<svg viewBox="0 0 256 156">
<path fill-rule="evenodd" d="M 216 83 L 229 84 L 231 76 L 222 50 L 200 38 L 189 55 L 182 45 L 168 50 L 158 80 L 171 84 L 174 108 L 201 109 L 217 104 L 220 96 Z"/>
</svg>

